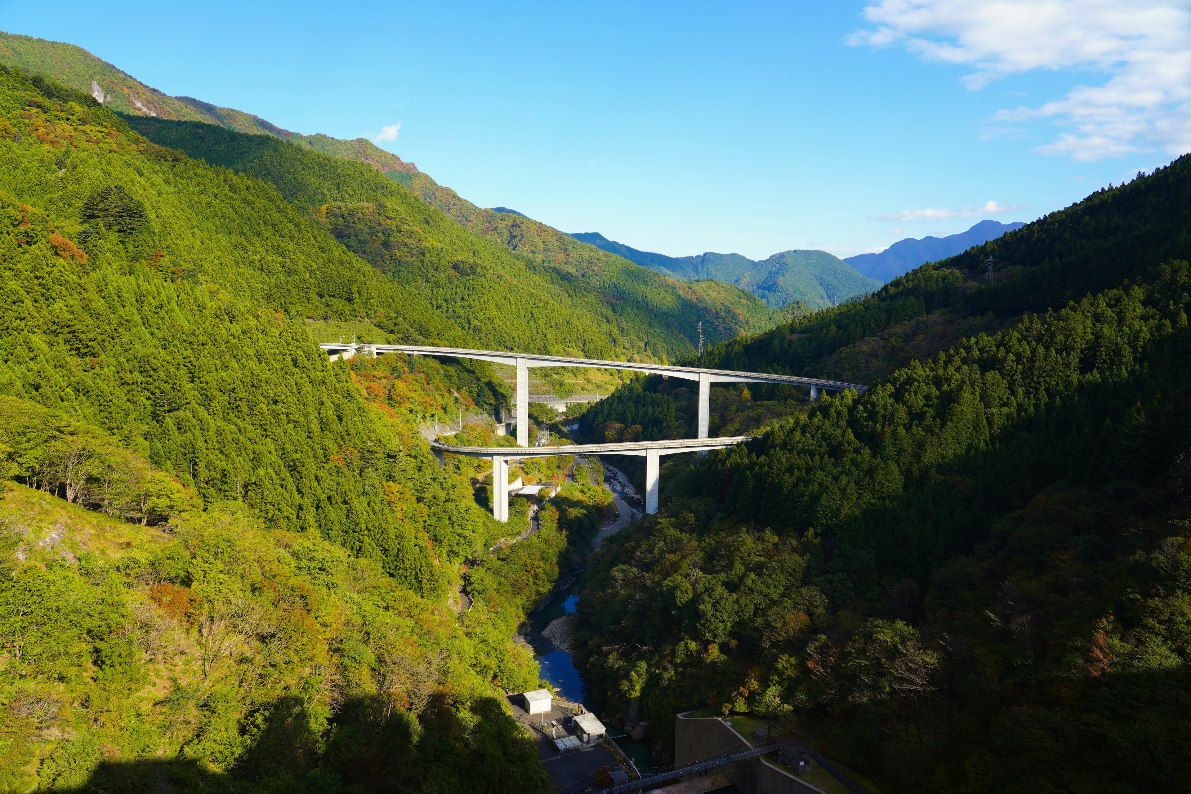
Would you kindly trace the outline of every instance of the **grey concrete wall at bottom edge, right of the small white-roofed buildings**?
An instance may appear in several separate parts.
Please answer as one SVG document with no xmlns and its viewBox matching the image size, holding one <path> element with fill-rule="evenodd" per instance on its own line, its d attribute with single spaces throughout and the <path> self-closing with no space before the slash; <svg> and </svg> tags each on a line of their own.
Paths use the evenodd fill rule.
<svg viewBox="0 0 1191 794">
<path fill-rule="evenodd" d="M 693 712 L 687 712 L 693 713 Z M 710 761 L 710 756 L 748 750 L 753 745 L 717 717 L 674 718 L 674 764 Z M 818 788 L 774 767 L 765 756 L 719 767 L 741 794 L 823 794 Z"/>
</svg>

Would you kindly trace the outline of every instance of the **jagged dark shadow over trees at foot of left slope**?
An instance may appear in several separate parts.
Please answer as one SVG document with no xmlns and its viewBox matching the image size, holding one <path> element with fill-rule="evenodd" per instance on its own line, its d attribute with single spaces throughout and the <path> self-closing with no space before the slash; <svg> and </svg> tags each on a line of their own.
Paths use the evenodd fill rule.
<svg viewBox="0 0 1191 794">
<path fill-rule="evenodd" d="M 70 794 L 366 794 L 476 792 L 534 794 L 553 790 L 537 749 L 495 698 L 472 702 L 461 720 L 442 690 L 418 717 L 375 696 L 349 698 L 323 730 L 303 699 L 279 698 L 250 709 L 238 725 L 199 729 L 192 752 L 177 757 L 105 761 L 112 751 L 76 738 L 68 751 L 42 767 L 43 787 Z M 473 723 L 470 730 L 464 723 Z M 258 726 L 255 737 L 245 733 Z M 225 771 L 214 759 L 248 746 Z M 70 745 L 74 752 L 70 751 Z M 93 755 L 87 756 L 87 751 Z M 192 756 L 192 757 L 183 757 Z M 87 771 L 87 770 L 91 771 Z M 56 779 L 56 780 L 52 780 Z"/>
</svg>

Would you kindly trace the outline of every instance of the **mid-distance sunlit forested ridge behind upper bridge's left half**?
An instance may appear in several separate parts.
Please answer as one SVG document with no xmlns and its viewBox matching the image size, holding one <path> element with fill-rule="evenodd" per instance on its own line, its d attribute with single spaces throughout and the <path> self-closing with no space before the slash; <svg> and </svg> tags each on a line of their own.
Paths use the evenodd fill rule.
<svg viewBox="0 0 1191 794">
<path fill-rule="evenodd" d="M 274 185 L 480 346 L 667 358 L 691 351 L 700 320 L 740 332 L 771 318 L 755 298 L 725 285 L 682 285 L 628 262 L 542 264 L 476 236 L 474 225 L 460 226 L 362 162 L 210 125 L 127 121 L 155 143 Z"/>
</svg>

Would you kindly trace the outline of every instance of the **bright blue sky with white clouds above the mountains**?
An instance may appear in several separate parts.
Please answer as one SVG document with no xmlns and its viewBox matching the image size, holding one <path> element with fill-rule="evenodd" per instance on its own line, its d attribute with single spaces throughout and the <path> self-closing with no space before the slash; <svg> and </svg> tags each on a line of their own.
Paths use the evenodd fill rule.
<svg viewBox="0 0 1191 794">
<path fill-rule="evenodd" d="M 168 94 L 399 125 L 379 145 L 478 205 L 754 258 L 1031 220 L 1191 150 L 1187 29 L 1181 0 L 0 0 Z"/>
</svg>

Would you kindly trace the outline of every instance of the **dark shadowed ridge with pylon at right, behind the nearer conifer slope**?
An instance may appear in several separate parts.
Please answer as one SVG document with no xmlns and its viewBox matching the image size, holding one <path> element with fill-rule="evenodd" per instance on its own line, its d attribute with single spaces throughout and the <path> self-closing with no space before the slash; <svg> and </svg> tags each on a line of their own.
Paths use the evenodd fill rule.
<svg viewBox="0 0 1191 794">
<path fill-rule="evenodd" d="M 1191 160 L 1180 157 L 959 256 L 916 268 L 865 300 L 716 345 L 699 365 L 827 375 L 824 357 L 937 310 L 960 318 L 992 312 L 1003 319 L 1045 312 L 1136 280 L 1159 262 L 1191 258 L 1189 232 Z"/>
</svg>

